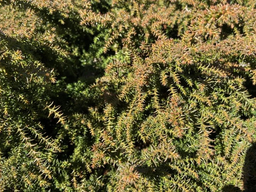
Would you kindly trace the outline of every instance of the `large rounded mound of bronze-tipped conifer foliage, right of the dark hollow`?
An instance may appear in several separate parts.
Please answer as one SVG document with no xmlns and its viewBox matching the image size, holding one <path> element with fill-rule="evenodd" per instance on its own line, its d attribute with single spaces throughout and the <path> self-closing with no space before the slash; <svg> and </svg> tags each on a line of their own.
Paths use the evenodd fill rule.
<svg viewBox="0 0 256 192">
<path fill-rule="evenodd" d="M 133 185 L 126 183 L 126 190 L 131 186 L 134 191 L 147 190 L 148 177 L 159 175 L 162 167 L 176 171 L 165 175 L 164 181 L 157 180 L 156 189 L 159 182 L 164 182 L 164 190 L 216 191 L 229 183 L 242 187 L 243 154 L 255 140 L 255 118 L 240 116 L 250 116 L 255 99 L 249 98 L 244 79 L 225 71 L 215 55 L 194 51 L 205 50 L 202 46 L 185 45 L 183 38 L 177 43 L 157 41 L 150 48 L 142 45 L 146 59 L 134 51 L 131 64 L 110 64 L 96 84 L 107 90 L 116 86 L 119 100 L 127 107 L 116 114 L 120 106 L 107 102 L 103 119 L 107 123 L 95 129 L 102 132 L 101 148 L 105 145 L 111 152 L 105 151 L 93 162 L 122 166 L 112 155 L 120 150 L 124 163 L 155 170 L 141 174 Z M 138 139 L 149 143 L 149 148 L 138 151 Z M 98 150 L 94 149 L 95 155 Z M 186 167 L 190 174 L 175 167 Z"/>
</svg>

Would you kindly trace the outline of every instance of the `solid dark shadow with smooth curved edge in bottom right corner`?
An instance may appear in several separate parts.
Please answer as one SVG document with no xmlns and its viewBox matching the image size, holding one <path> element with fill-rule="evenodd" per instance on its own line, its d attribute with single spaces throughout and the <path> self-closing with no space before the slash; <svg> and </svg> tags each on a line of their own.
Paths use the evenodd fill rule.
<svg viewBox="0 0 256 192">
<path fill-rule="evenodd" d="M 243 192 L 256 191 L 256 143 L 247 150 L 243 167 Z M 238 187 L 228 185 L 222 189 L 223 192 L 242 192 Z"/>
</svg>

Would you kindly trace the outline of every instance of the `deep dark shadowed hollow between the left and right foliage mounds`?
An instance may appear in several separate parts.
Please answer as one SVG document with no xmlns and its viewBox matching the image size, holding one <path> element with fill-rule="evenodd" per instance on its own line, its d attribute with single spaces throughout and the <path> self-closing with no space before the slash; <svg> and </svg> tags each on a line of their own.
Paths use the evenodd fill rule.
<svg viewBox="0 0 256 192">
<path fill-rule="evenodd" d="M 97 36 L 100 31 L 90 26 L 87 26 L 87 28 L 93 30 L 92 34 L 84 31 L 80 25 L 80 19 L 76 17 L 76 15 L 79 15 L 78 13 L 75 14 L 75 16 L 71 14 L 68 18 L 64 18 L 59 11 L 49 14 L 47 8 L 38 9 L 29 1 L 25 4 L 22 3 L 23 2 L 20 4 L 20 9 L 33 10 L 43 21 L 43 25 L 39 27 L 36 32 L 44 33 L 48 24 L 50 24 L 50 27 L 56 29 L 57 37 L 65 40 L 65 43 L 62 44 L 61 41 L 57 45 L 60 45 L 60 48 L 67 51 L 68 57 L 62 58 L 57 53 L 52 52 L 50 45 L 33 42 L 26 37 L 23 37 L 23 41 L 17 41 L 17 39 L 13 37 L 7 37 L 4 33 L 0 33 L 0 38 L 5 38 L 10 42 L 8 44 L 10 45 L 8 47 L 9 49 L 19 49 L 22 53 L 30 55 L 34 60 L 43 63 L 45 67 L 54 68 L 56 70 L 58 73 L 58 82 L 51 84 L 50 88 L 47 87 L 44 93 L 45 95 L 42 95 L 42 97 L 49 97 L 50 101 L 54 102 L 54 105 L 60 105 L 65 116 L 69 115 L 72 118 L 72 114 L 86 114 L 88 106 L 93 106 L 96 102 L 93 91 L 90 90 L 89 86 L 93 84 L 97 78 L 104 75 L 102 62 L 93 61 L 93 58 L 96 58 L 97 49 L 91 48 L 91 45 L 94 43 L 94 37 Z M 10 4 L 9 1 L 0 3 L 0 5 L 8 4 Z M 109 9 L 108 6 L 107 3 L 93 3 L 92 10 L 106 13 Z M 62 21 L 62 23 L 60 21 Z M 34 46 L 35 44 L 36 46 Z M 84 61 L 84 53 L 87 53 L 92 58 L 92 62 Z M 104 57 L 107 58 L 114 54 L 115 52 L 108 52 L 104 54 Z M 95 65 L 97 66 L 95 67 Z M 52 116 L 51 118 L 47 118 L 47 116 L 40 117 L 39 121 L 44 126 L 46 134 L 51 135 L 53 139 L 61 132 L 61 125 L 56 125 L 57 121 Z M 73 154 L 74 146 L 69 143 L 69 135 L 66 134 L 65 136 L 66 137 L 63 138 L 63 145 L 65 145 L 66 148 L 62 149 L 63 153 L 58 154 L 57 158 L 59 159 L 67 159 Z M 72 170 L 70 171 L 72 172 Z"/>
</svg>

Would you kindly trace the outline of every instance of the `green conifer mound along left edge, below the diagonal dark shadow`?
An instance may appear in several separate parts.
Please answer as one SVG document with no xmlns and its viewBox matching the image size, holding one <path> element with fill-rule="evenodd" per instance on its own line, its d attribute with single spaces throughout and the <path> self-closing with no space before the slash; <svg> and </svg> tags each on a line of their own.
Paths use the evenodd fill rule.
<svg viewBox="0 0 256 192">
<path fill-rule="evenodd" d="M 40 175 L 51 178 L 47 162 L 60 147 L 44 134 L 39 119 L 47 118 L 49 112 L 61 123 L 65 119 L 58 108 L 47 105 L 47 97 L 43 97 L 48 84 L 56 81 L 55 73 L 23 50 L 14 34 L 1 33 L 0 36 L 0 187 L 7 190 L 13 185 L 14 190 L 18 190 L 16 186 L 36 179 L 38 186 L 43 185 L 45 181 Z M 49 112 L 42 112 L 44 108 Z M 27 179 L 26 175 L 33 179 Z"/>
</svg>

